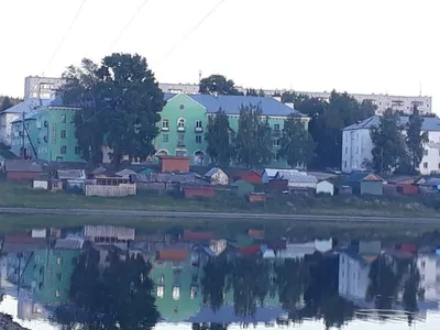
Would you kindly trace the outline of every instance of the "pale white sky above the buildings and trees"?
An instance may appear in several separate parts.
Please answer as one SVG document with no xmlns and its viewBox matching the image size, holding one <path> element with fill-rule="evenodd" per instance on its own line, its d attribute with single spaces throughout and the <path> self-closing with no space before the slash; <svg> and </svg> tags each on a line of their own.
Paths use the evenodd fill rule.
<svg viewBox="0 0 440 330">
<path fill-rule="evenodd" d="M 1 0 L 0 95 L 127 52 L 161 82 L 197 82 L 201 70 L 267 89 L 417 96 L 421 86 L 440 113 L 439 11 L 436 0 Z"/>
</svg>

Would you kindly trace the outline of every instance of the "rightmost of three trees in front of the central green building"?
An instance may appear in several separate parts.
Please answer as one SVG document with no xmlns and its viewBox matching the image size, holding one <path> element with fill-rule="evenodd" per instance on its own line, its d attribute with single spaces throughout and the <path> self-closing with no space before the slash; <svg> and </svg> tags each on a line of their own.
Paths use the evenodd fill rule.
<svg viewBox="0 0 440 330">
<path fill-rule="evenodd" d="M 297 117 L 289 116 L 284 122 L 278 155 L 292 167 L 305 166 L 314 157 L 315 142 Z"/>
</svg>

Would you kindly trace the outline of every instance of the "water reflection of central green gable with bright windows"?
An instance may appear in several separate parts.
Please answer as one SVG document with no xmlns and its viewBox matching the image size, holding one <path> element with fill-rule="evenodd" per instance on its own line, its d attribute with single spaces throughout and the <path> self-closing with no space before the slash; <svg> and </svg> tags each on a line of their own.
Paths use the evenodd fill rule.
<svg viewBox="0 0 440 330">
<path fill-rule="evenodd" d="M 184 258 L 185 257 L 185 258 Z M 152 260 L 151 278 L 161 317 L 167 322 L 180 322 L 201 308 L 200 272 L 191 263 L 191 253 L 174 251 Z"/>
</svg>

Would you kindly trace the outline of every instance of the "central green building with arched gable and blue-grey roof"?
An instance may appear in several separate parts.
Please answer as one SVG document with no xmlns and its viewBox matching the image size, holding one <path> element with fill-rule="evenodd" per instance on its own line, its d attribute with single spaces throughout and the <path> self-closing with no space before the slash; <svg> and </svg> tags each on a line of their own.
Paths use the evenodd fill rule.
<svg viewBox="0 0 440 330">
<path fill-rule="evenodd" d="M 160 134 L 154 141 L 156 155 L 189 157 L 193 165 L 206 165 L 210 162 L 206 152 L 208 145 L 205 133 L 208 118 L 215 116 L 219 109 L 227 113 L 231 130 L 237 132 L 241 106 L 260 105 L 274 134 L 274 160 L 271 165 L 279 168 L 287 166 L 286 161 L 277 156 L 284 121 L 294 114 L 307 127 L 309 120 L 273 98 L 166 94 L 165 100 L 167 103 L 161 111 Z"/>
</svg>

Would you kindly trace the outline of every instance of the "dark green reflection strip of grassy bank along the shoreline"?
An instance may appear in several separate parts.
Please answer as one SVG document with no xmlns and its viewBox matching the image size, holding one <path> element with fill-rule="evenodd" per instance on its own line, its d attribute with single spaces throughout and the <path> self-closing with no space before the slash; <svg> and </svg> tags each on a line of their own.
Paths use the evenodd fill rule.
<svg viewBox="0 0 440 330">
<path fill-rule="evenodd" d="M 341 222 L 297 222 L 271 219 L 167 219 L 141 217 L 59 217 L 59 216 L 16 216 L 0 215 L 0 233 L 10 233 L 35 228 L 80 228 L 85 224 L 112 224 L 133 227 L 138 233 L 167 232 L 182 229 L 209 230 L 216 238 L 233 238 L 248 229 L 263 229 L 266 238 L 285 237 L 298 241 L 316 238 L 377 239 L 383 241 L 427 242 L 439 239 L 440 224 L 394 224 L 394 223 L 350 223 Z M 431 243 L 431 242 L 429 242 Z"/>
</svg>

